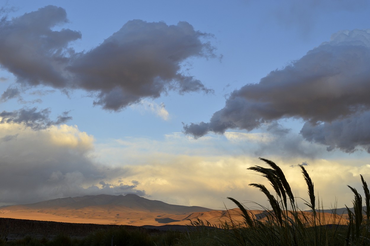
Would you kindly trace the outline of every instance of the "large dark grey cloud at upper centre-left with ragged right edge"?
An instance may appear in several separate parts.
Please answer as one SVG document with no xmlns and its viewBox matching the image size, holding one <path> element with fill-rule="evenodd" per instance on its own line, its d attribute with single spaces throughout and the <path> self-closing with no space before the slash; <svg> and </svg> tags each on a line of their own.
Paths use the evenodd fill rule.
<svg viewBox="0 0 370 246">
<path fill-rule="evenodd" d="M 168 26 L 132 20 L 100 46 L 78 55 L 68 69 L 78 87 L 99 91 L 94 104 L 105 109 L 119 110 L 169 89 L 209 92 L 201 81 L 181 73 L 187 58 L 214 56 L 213 47 L 201 41 L 206 36 L 187 22 Z"/>
</svg>

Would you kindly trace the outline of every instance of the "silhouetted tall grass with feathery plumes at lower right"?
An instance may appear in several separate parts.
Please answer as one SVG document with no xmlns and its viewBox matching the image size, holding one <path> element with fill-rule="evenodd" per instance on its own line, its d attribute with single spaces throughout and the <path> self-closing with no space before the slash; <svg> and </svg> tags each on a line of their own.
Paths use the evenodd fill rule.
<svg viewBox="0 0 370 246">
<path fill-rule="evenodd" d="M 274 162 L 260 158 L 269 167 L 252 166 L 249 170 L 260 173 L 272 186 L 272 192 L 259 183 L 250 186 L 258 188 L 267 198 L 270 208 L 258 205 L 265 210 L 266 219 L 260 220 L 242 203 L 232 200 L 240 209 L 243 221 L 225 223 L 219 229 L 209 229 L 198 221 L 197 233 L 189 234 L 188 241 L 182 245 L 230 245 L 230 246 L 336 246 L 369 245 L 370 192 L 361 175 L 365 193 L 365 207 L 356 189 L 348 186 L 354 193 L 353 210 L 348 210 L 348 219 L 336 215 L 332 209 L 329 219 L 320 209 L 316 200 L 313 181 L 303 166 L 301 173 L 307 185 L 308 199 L 303 199 L 309 212 L 298 208 L 292 189 L 283 171 Z M 273 195 L 274 194 L 274 195 Z M 302 198 L 299 198 L 302 199 Z"/>
</svg>

